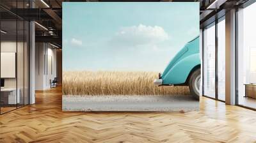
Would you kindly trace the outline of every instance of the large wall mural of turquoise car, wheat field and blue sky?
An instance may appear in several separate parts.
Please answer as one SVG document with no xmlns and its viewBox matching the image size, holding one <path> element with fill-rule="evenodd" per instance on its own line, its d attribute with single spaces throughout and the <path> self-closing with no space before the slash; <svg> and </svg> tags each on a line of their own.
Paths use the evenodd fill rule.
<svg viewBox="0 0 256 143">
<path fill-rule="evenodd" d="M 198 110 L 199 3 L 63 3 L 63 110 Z"/>
</svg>

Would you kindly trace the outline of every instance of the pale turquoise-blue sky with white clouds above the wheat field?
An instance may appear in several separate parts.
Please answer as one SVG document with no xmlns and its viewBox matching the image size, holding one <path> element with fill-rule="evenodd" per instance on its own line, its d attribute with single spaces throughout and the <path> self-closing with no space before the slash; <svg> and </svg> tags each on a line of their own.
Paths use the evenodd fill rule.
<svg viewBox="0 0 256 143">
<path fill-rule="evenodd" d="M 199 35 L 199 3 L 63 3 L 63 70 L 163 72 Z"/>
</svg>

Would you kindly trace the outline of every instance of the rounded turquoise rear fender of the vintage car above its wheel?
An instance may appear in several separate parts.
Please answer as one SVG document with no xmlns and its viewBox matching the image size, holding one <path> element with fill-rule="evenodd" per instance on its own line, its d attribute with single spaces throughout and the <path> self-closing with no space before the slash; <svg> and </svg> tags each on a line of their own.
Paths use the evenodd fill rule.
<svg viewBox="0 0 256 143">
<path fill-rule="evenodd" d="M 162 77 L 163 84 L 184 84 L 191 70 L 199 64 L 201 64 L 199 53 L 184 57 Z"/>
</svg>

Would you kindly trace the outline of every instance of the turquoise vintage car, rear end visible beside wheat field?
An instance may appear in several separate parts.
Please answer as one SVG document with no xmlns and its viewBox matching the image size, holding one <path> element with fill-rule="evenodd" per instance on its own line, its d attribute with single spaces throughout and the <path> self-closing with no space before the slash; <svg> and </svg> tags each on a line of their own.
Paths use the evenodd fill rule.
<svg viewBox="0 0 256 143">
<path fill-rule="evenodd" d="M 170 61 L 159 78 L 158 86 L 189 86 L 190 93 L 199 99 L 200 93 L 199 36 L 189 41 Z"/>
</svg>

